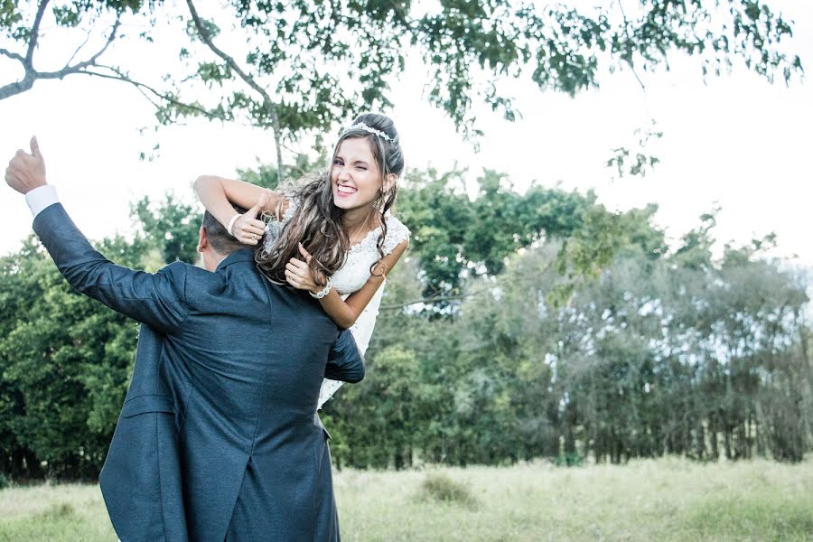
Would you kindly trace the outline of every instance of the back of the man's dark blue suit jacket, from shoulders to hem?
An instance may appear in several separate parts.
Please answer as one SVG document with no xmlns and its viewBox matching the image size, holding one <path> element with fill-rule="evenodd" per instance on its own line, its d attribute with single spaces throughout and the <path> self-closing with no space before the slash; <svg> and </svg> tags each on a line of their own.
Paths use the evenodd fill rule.
<svg viewBox="0 0 813 542">
<path fill-rule="evenodd" d="M 307 295 L 268 283 L 248 250 L 215 274 L 189 269 L 186 287 L 190 314 L 164 356 L 193 381 L 179 429 L 190 536 L 323 539 L 313 503 L 329 492 L 332 504 L 320 476 L 330 457 L 314 415 L 335 324 Z"/>
</svg>

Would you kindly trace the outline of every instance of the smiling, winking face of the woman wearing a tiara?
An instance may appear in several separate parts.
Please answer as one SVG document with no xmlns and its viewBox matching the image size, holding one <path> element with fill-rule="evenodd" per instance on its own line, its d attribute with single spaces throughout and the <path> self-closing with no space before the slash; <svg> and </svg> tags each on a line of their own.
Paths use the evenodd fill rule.
<svg viewBox="0 0 813 542">
<path fill-rule="evenodd" d="M 343 210 L 372 205 L 381 189 L 381 172 L 366 137 L 345 139 L 331 168 L 333 203 Z"/>
</svg>

